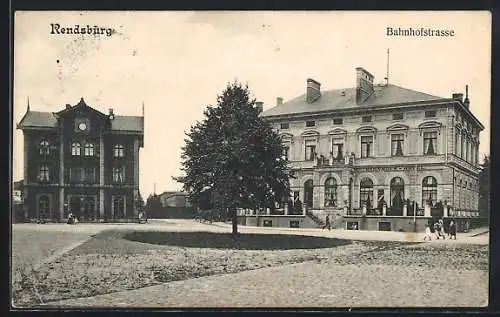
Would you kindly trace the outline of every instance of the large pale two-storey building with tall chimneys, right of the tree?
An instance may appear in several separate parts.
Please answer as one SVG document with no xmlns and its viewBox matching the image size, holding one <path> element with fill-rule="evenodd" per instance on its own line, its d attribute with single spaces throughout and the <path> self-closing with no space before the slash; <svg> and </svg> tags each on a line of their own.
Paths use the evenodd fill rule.
<svg viewBox="0 0 500 317">
<path fill-rule="evenodd" d="M 277 98 L 261 115 L 281 135 L 296 175 L 294 201 L 284 204 L 282 216 L 261 223 L 321 225 L 330 215 L 337 228 L 422 231 L 438 218 L 453 217 L 466 229 L 479 217 L 484 126 L 471 112 L 467 86 L 465 96 L 442 98 L 376 85 L 359 67 L 354 88 L 322 91 L 307 79 L 304 95 Z M 295 202 L 303 218 L 291 218 Z"/>
</svg>

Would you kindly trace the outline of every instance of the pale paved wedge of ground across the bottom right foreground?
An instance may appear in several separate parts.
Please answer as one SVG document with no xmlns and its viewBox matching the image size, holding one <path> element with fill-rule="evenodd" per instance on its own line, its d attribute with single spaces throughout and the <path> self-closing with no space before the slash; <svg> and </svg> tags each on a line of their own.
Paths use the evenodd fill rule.
<svg viewBox="0 0 500 317">
<path fill-rule="evenodd" d="M 387 254 L 372 253 L 384 259 Z M 355 259 L 359 260 L 356 261 Z M 426 259 L 426 263 L 429 263 Z M 432 260 L 432 258 L 430 259 Z M 443 261 L 435 258 L 434 261 Z M 487 261 L 487 260 L 486 260 Z M 345 257 L 165 283 L 71 299 L 55 306 L 100 307 L 477 307 L 488 271 L 438 265 L 365 263 Z M 384 261 L 380 260 L 378 263 Z"/>
</svg>

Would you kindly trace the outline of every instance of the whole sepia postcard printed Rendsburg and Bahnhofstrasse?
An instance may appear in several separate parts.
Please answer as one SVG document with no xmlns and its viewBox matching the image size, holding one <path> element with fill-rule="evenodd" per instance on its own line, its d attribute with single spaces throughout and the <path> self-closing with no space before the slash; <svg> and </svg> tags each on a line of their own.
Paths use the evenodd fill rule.
<svg viewBox="0 0 500 317">
<path fill-rule="evenodd" d="M 17 11 L 12 309 L 486 307 L 488 11 Z"/>
</svg>

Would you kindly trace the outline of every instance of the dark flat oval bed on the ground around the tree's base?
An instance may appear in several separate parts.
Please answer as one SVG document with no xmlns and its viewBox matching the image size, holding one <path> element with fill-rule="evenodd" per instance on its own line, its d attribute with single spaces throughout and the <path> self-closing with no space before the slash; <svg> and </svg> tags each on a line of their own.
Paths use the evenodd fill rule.
<svg viewBox="0 0 500 317">
<path fill-rule="evenodd" d="M 351 243 L 348 240 L 283 234 L 238 234 L 214 232 L 135 231 L 124 239 L 187 248 L 236 250 L 292 250 L 332 248 Z"/>
</svg>

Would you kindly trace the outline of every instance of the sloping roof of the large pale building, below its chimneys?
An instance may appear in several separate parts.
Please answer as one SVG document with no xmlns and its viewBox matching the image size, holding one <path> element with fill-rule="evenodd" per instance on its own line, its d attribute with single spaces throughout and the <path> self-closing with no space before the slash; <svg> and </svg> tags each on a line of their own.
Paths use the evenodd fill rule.
<svg viewBox="0 0 500 317">
<path fill-rule="evenodd" d="M 402 88 L 396 85 L 374 86 L 373 94 L 362 104 L 356 103 L 356 88 L 322 91 L 321 97 L 313 103 L 306 102 L 306 95 L 300 95 L 262 113 L 263 117 L 287 114 L 322 112 L 337 109 L 356 109 L 367 106 L 385 106 L 425 101 L 445 101 L 447 98 Z"/>
</svg>

